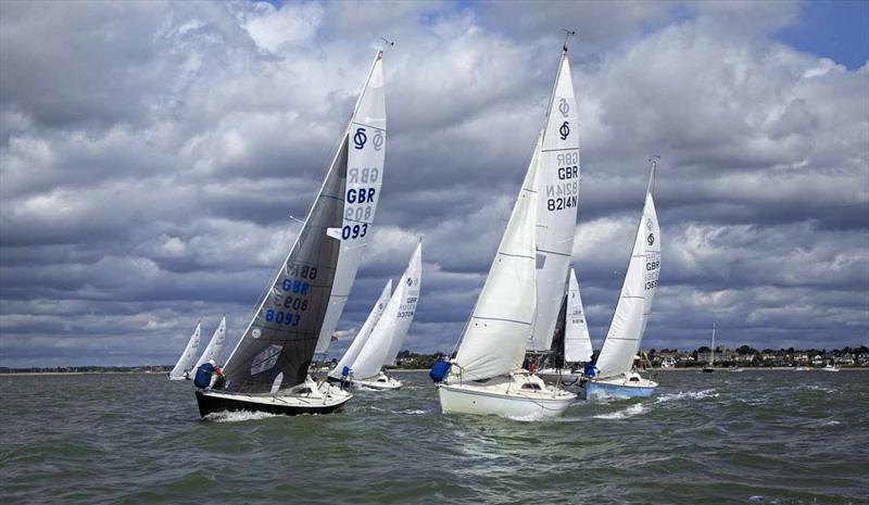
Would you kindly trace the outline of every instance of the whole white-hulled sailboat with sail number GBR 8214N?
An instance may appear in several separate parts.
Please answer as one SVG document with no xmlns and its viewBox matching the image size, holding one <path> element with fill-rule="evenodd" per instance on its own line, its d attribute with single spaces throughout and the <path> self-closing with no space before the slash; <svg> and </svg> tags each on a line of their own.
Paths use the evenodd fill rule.
<svg viewBox="0 0 869 505">
<path fill-rule="evenodd" d="M 430 374 L 444 413 L 554 417 L 576 399 L 522 369 L 522 361 L 529 349 L 549 350 L 562 305 L 576 229 L 577 127 L 565 45 L 545 121 L 486 283 L 455 357 L 436 363 Z"/>
</svg>

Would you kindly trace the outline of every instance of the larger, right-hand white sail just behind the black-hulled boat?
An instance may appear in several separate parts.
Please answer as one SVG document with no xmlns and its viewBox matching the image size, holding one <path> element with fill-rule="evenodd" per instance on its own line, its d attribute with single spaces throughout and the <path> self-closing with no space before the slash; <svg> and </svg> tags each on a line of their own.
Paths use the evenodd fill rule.
<svg viewBox="0 0 869 505">
<path fill-rule="evenodd" d="M 407 268 L 389 299 L 383 315 L 360 352 L 351 369 L 355 379 L 367 379 L 380 373 L 383 365 L 394 363 L 399 348 L 407 334 L 419 300 L 423 273 L 423 242 L 414 250 Z"/>
</svg>

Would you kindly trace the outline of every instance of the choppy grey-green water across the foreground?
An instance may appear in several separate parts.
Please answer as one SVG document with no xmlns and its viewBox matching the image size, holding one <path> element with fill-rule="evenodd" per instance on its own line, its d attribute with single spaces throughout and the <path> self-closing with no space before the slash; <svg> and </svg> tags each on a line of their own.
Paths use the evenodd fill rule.
<svg viewBox="0 0 869 505">
<path fill-rule="evenodd" d="M 441 415 L 402 377 L 335 415 L 206 421 L 160 375 L 0 377 L 0 502 L 867 503 L 869 373 L 663 373 L 532 422 Z"/>
</svg>

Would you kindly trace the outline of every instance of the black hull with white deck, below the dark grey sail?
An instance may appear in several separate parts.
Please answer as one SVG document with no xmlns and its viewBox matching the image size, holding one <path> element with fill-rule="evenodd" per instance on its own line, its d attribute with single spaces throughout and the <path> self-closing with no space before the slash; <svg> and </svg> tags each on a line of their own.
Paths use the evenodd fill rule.
<svg viewBox="0 0 869 505">
<path fill-rule="evenodd" d="M 288 394 L 282 396 L 228 393 L 213 390 L 197 390 L 199 415 L 205 417 L 218 412 L 265 412 L 285 416 L 300 414 L 330 414 L 341 408 L 353 397 L 347 391 L 332 388 L 327 394 L 319 391 L 313 394 Z"/>
</svg>

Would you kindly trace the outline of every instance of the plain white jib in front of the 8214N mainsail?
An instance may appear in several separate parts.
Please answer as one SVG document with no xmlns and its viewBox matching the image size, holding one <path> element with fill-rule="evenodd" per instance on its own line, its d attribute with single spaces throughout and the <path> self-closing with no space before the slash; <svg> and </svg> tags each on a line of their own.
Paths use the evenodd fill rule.
<svg viewBox="0 0 869 505">
<path fill-rule="evenodd" d="M 538 149 L 452 361 L 450 374 L 462 380 L 508 374 L 519 369 L 525 357 L 537 305 L 537 154 Z"/>
</svg>

